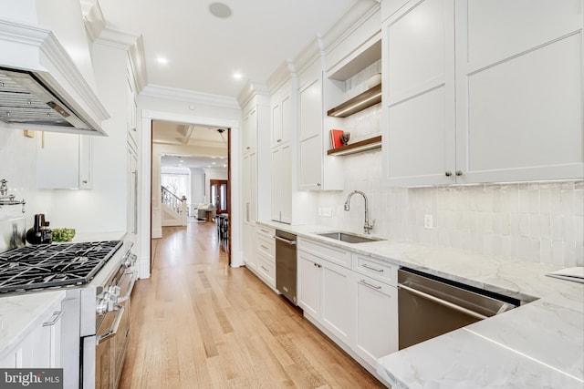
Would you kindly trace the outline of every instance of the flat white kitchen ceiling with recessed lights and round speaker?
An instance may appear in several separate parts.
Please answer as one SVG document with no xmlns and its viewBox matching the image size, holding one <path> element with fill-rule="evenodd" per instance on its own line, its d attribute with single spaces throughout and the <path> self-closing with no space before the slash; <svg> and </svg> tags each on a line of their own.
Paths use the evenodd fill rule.
<svg viewBox="0 0 584 389">
<path fill-rule="evenodd" d="M 236 97 L 246 81 L 265 84 L 351 5 L 372 0 L 99 0 L 108 26 L 143 37 L 148 84 Z M 168 59 L 159 64 L 158 56 Z M 241 72 L 236 80 L 234 72 Z"/>
</svg>

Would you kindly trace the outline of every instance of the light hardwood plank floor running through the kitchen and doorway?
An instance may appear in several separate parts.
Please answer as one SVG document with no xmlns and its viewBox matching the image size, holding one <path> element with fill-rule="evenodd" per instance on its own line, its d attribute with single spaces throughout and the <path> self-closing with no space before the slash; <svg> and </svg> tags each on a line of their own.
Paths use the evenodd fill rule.
<svg viewBox="0 0 584 389">
<path fill-rule="evenodd" d="M 132 293 L 121 388 L 383 387 L 245 267 L 214 223 L 164 228 Z"/>
</svg>

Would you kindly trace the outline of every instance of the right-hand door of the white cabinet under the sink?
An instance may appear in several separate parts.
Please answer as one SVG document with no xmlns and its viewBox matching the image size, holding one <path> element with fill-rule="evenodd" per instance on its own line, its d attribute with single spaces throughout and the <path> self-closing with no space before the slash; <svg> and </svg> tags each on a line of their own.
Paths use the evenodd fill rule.
<svg viewBox="0 0 584 389">
<path fill-rule="evenodd" d="M 328 261 L 322 266 L 321 322 L 340 341 L 349 344 L 354 333 L 354 295 L 351 271 Z"/>
</svg>

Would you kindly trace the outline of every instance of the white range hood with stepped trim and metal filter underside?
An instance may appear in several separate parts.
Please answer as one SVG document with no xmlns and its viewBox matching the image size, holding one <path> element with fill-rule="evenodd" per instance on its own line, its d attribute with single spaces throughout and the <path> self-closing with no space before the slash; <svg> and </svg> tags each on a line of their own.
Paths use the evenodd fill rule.
<svg viewBox="0 0 584 389">
<path fill-rule="evenodd" d="M 107 135 L 109 117 L 51 31 L 0 20 L 0 128 Z"/>
</svg>

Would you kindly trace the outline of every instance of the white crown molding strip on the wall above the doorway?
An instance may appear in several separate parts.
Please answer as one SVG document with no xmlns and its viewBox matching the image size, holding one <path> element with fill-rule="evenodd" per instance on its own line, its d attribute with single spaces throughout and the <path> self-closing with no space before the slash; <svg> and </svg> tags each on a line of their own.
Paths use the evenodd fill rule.
<svg viewBox="0 0 584 389">
<path fill-rule="evenodd" d="M 162 87 L 159 85 L 147 85 L 143 87 L 141 96 L 166 98 L 170 100 L 188 101 L 205 106 L 239 109 L 235 97 L 212 95 L 210 93 L 196 92 L 174 87 Z"/>
</svg>

